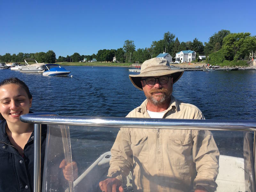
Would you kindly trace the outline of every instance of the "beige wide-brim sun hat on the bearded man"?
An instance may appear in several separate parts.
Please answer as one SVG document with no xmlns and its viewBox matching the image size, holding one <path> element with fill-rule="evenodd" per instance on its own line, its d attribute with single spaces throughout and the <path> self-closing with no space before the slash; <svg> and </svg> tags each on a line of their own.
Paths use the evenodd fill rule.
<svg viewBox="0 0 256 192">
<path fill-rule="evenodd" d="M 138 88 L 139 90 L 143 90 L 140 82 L 141 77 L 171 75 L 173 77 L 173 83 L 175 83 L 176 81 L 178 81 L 183 73 L 184 70 L 172 70 L 168 60 L 155 57 L 149 60 L 145 60 L 141 65 L 140 74 L 129 75 L 129 78 L 136 88 Z"/>
</svg>

